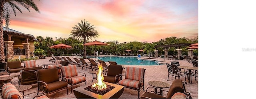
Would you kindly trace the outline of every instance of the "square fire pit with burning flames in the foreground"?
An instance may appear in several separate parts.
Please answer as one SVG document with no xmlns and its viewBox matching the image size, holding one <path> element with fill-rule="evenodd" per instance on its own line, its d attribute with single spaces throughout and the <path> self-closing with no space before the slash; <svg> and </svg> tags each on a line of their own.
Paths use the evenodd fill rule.
<svg viewBox="0 0 256 99">
<path fill-rule="evenodd" d="M 97 83 L 94 81 L 73 89 L 76 98 L 119 98 L 122 95 L 124 86 L 104 82 L 102 65 L 98 67 Z"/>
</svg>

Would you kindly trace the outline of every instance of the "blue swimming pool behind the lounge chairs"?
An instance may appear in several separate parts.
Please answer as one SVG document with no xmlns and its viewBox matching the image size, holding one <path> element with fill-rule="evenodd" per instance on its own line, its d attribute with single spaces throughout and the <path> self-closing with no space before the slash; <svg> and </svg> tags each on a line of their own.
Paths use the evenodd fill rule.
<svg viewBox="0 0 256 99">
<path fill-rule="evenodd" d="M 93 56 L 92 56 L 93 58 Z M 98 56 L 98 59 L 107 61 L 116 61 L 119 65 L 162 65 L 158 61 L 137 59 L 137 57 L 127 57 L 127 56 Z"/>
</svg>

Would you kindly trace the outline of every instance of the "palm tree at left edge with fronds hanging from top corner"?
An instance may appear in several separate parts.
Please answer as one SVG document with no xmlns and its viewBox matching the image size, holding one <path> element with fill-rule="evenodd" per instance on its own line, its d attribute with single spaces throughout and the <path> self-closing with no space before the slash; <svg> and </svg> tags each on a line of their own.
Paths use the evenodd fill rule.
<svg viewBox="0 0 256 99">
<path fill-rule="evenodd" d="M 9 28 L 11 14 L 10 8 L 12 8 L 15 16 L 16 10 L 22 13 L 20 7 L 18 7 L 16 4 L 24 6 L 29 12 L 29 8 L 32 7 L 36 12 L 40 13 L 36 4 L 32 0 L 0 0 L 0 60 L 2 60 L 2 62 L 5 62 L 3 21 L 5 21 L 6 28 Z"/>
</svg>

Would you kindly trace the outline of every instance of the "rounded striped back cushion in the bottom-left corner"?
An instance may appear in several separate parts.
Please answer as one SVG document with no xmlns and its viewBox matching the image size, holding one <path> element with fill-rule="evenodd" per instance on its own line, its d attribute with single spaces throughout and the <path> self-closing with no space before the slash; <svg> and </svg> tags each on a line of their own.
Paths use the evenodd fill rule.
<svg viewBox="0 0 256 99">
<path fill-rule="evenodd" d="M 6 83 L 2 87 L 2 98 L 21 98 L 23 99 L 23 96 L 20 94 L 20 92 L 12 85 L 11 83 Z"/>
</svg>

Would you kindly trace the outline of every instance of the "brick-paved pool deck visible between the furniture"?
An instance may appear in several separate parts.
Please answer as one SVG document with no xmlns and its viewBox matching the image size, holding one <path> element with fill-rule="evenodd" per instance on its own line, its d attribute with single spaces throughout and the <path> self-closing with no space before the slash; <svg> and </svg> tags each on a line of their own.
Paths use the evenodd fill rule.
<svg viewBox="0 0 256 99">
<path fill-rule="evenodd" d="M 65 56 L 65 57 L 70 57 L 71 59 L 73 59 L 74 56 Z M 78 57 L 76 57 L 78 58 Z M 46 59 L 38 59 L 36 60 L 36 63 L 40 66 L 42 66 L 42 64 L 54 64 L 52 62 L 49 62 L 49 59 L 52 59 L 52 57 L 46 57 Z M 95 59 L 95 58 L 92 58 Z M 148 57 L 141 57 L 141 59 L 148 59 Z M 74 59 L 73 59 L 74 60 Z M 87 62 L 88 59 L 85 59 Z M 167 60 L 164 58 L 156 58 L 156 57 L 152 57 L 150 60 L 158 60 L 158 61 L 162 61 L 161 63 L 170 63 L 170 61 L 179 61 L 181 66 L 193 66 L 192 63 L 189 63 L 188 61 L 184 61 L 184 60 Z M 98 62 L 98 61 L 97 61 Z M 108 62 L 106 62 L 107 64 L 109 64 Z M 22 63 L 23 65 L 23 63 Z M 168 69 L 166 67 L 166 64 L 164 65 L 148 65 L 148 66 L 140 66 L 140 65 L 123 65 L 124 67 L 126 66 L 132 66 L 132 67 L 142 67 L 145 68 L 145 91 L 141 90 L 140 91 L 140 96 L 143 95 L 144 92 L 146 92 L 146 89 L 148 87 L 151 87 L 150 85 L 148 85 L 148 81 L 163 81 L 166 83 L 169 83 L 170 85 L 172 84 L 172 81 L 175 79 L 175 77 L 170 76 L 169 77 L 169 81 L 167 81 L 168 78 Z M 78 72 L 83 72 L 86 74 L 86 81 L 89 83 L 92 81 L 92 74 L 88 73 L 88 71 L 91 71 L 91 69 L 87 69 L 85 70 L 85 68 L 82 70 L 82 67 L 78 67 Z M 123 71 L 123 74 L 125 73 L 125 70 Z M 12 79 L 12 84 L 13 85 L 18 85 L 18 75 L 19 73 L 11 73 L 11 76 L 14 76 L 15 78 Z M 198 78 L 196 78 L 198 79 Z M 185 81 L 185 77 L 182 78 L 182 81 Z M 186 80 L 188 81 L 188 80 Z M 73 89 L 75 89 L 76 87 L 80 87 L 81 85 L 84 85 L 84 83 L 80 83 L 77 85 L 73 86 Z M 49 98 L 65 98 L 65 99 L 76 99 L 74 93 L 70 93 L 71 88 L 68 87 L 69 91 L 68 91 L 68 95 L 66 95 L 66 89 L 63 89 L 61 91 L 49 94 L 48 97 Z M 187 85 L 185 85 L 186 91 L 191 93 L 192 98 L 198 98 L 198 81 L 195 81 L 195 78 L 193 76 L 192 79 L 192 84 L 188 83 Z M 164 88 L 164 90 L 168 91 L 169 88 Z M 30 93 L 30 92 L 34 92 L 37 91 L 37 84 L 32 84 L 32 88 L 30 90 L 24 91 L 24 94 Z M 152 89 L 153 91 L 153 89 Z M 166 97 L 167 92 L 163 92 L 163 96 Z M 32 95 L 27 95 L 24 98 L 33 98 L 35 94 Z M 124 92 L 122 93 L 122 95 L 120 96 L 120 98 L 138 98 L 138 91 L 133 90 L 133 89 L 129 89 L 129 88 L 124 88 Z"/>
</svg>

